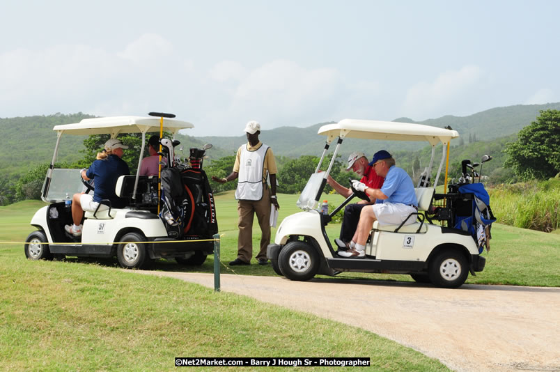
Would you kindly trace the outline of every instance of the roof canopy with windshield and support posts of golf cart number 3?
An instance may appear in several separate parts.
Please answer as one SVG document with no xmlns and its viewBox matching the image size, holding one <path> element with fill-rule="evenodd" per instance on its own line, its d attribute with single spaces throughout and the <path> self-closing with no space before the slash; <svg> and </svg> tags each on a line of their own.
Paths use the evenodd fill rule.
<svg viewBox="0 0 560 372">
<path fill-rule="evenodd" d="M 323 125 L 319 128 L 318 134 L 327 136 L 325 149 L 323 150 L 319 164 L 315 173 L 311 175 L 304 191 L 297 201 L 297 206 L 303 210 L 311 210 L 316 208 L 322 190 L 325 187 L 327 176 L 329 175 L 339 148 L 345 138 L 358 138 L 358 139 L 379 139 L 379 140 L 392 140 L 392 141 L 427 141 L 432 146 L 432 159 L 430 165 L 426 169 L 426 174 L 430 174 L 432 170 L 435 146 L 443 144 L 443 155 L 440 162 L 440 168 L 437 171 L 434 185 L 437 185 L 440 172 L 444 164 L 444 158 L 447 154 L 447 145 L 453 138 L 459 137 L 456 130 L 444 129 L 440 127 L 431 127 L 430 125 L 414 124 L 414 123 L 398 123 L 394 121 L 370 121 L 370 120 L 355 120 L 344 119 L 339 123 Z M 320 166 L 325 159 L 327 150 L 329 149 L 332 141 L 336 139 L 336 148 L 332 156 L 329 168 L 326 172 L 320 172 Z"/>
</svg>

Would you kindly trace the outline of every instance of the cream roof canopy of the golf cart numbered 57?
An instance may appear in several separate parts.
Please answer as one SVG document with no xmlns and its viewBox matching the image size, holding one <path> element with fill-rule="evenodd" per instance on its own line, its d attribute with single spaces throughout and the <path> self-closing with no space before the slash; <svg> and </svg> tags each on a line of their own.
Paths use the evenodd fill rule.
<svg viewBox="0 0 560 372">
<path fill-rule="evenodd" d="M 192 128 L 187 121 L 163 119 L 163 129 L 175 135 L 179 130 Z M 53 130 L 68 134 L 111 134 L 111 138 L 120 133 L 160 132 L 160 118 L 142 116 L 108 116 L 107 118 L 84 119 L 79 123 L 56 125 Z"/>
</svg>

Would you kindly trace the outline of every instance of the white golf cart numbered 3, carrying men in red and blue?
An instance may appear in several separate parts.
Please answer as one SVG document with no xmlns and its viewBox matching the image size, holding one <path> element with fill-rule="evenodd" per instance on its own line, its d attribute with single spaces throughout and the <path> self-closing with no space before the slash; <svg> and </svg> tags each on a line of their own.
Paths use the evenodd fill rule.
<svg viewBox="0 0 560 372">
<path fill-rule="evenodd" d="M 451 139 L 459 137 L 455 130 L 448 130 L 428 125 L 396 123 L 384 121 L 366 121 L 344 119 L 336 124 L 323 125 L 318 134 L 327 136 L 327 143 L 315 173 L 302 192 L 297 206 L 304 210 L 290 215 L 281 222 L 274 244 L 267 247 L 267 257 L 277 274 L 291 280 L 306 281 L 316 274 L 336 275 L 340 272 L 379 272 L 392 274 L 410 274 L 418 282 L 431 282 L 435 286 L 457 288 L 467 279 L 470 272 L 482 271 L 485 258 L 480 256 L 479 247 L 472 235 L 449 224 L 453 207 L 442 206 L 441 218 L 429 217 L 433 208 L 435 187 L 429 187 L 427 177 L 421 178 L 416 188 L 419 202 L 418 219 L 406 226 L 372 226 L 370 238 L 366 244 L 365 258 L 343 258 L 336 254 L 336 246 L 330 242 L 325 226 L 332 216 L 339 212 L 354 196 L 364 195 L 353 190 L 353 194 L 336 208 L 330 215 L 323 215 L 316 210 L 327 176 L 329 175 L 336 154 L 345 138 L 377 139 L 394 141 L 427 141 L 432 146 L 432 158 L 425 171 L 430 175 L 435 157 L 435 146 L 442 144 L 443 153 L 437 169 L 434 185 L 440 178 L 442 167 L 446 163 L 448 144 Z M 320 171 L 329 144 L 336 139 L 334 155 L 327 171 Z M 379 150 L 379 149 L 378 149 Z M 397 159 L 398 165 L 398 159 Z M 446 164 L 447 167 L 447 164 Z M 447 174 L 447 171 L 446 173 Z M 444 199 L 438 195 L 437 199 Z M 450 201 L 451 203 L 451 201 Z M 434 219 L 448 222 L 448 226 L 433 223 Z"/>
</svg>

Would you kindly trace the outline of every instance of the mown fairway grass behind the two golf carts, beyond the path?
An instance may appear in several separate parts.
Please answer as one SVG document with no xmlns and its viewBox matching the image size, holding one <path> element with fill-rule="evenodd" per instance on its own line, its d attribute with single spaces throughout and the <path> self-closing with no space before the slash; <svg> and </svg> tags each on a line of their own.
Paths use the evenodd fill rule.
<svg viewBox="0 0 560 372">
<path fill-rule="evenodd" d="M 325 196 L 329 203 L 341 203 L 343 198 L 332 194 Z M 493 200 L 493 199 L 492 199 Z M 297 196 L 279 195 L 280 211 L 279 223 L 288 215 L 299 212 L 295 206 Z M 252 261 L 249 266 L 229 266 L 228 262 L 237 257 L 238 240 L 238 214 L 237 202 L 233 199 L 233 192 L 226 192 L 216 196 L 217 218 L 219 231 L 221 233 L 221 272 L 229 274 L 244 275 L 276 275 L 270 265 L 256 265 Z M 33 226 L 29 226 L 29 219 L 33 212 L 41 206 L 38 201 L 26 201 L 17 203 L 9 207 L 0 207 L 0 224 L 6 220 L 12 226 L 14 233 L 17 233 L 17 240 L 23 241 L 27 233 L 33 231 Z M 10 217 L 8 217 L 10 216 Z M 277 226 L 279 226 L 279 223 Z M 260 240 L 260 229 L 255 222 L 253 226 L 253 257 L 257 254 Z M 327 235 L 329 238 L 338 238 L 340 224 L 329 224 Z M 0 241 L 6 234 L 0 232 Z M 276 234 L 276 228 L 272 228 L 272 240 Z M 13 235 L 15 238 L 15 235 Z M 14 239 L 7 239 L 15 241 Z M 0 249 L 1 249 L 0 245 Z M 511 284 L 517 286 L 560 286 L 560 235 L 542 233 L 528 229 L 505 226 L 503 224 L 492 224 L 492 240 L 490 240 L 490 251 L 484 252 L 486 266 L 483 272 L 476 273 L 476 276 L 469 275 L 467 284 Z M 21 253 L 22 254 L 22 253 Z M 72 262 L 92 262 L 92 260 L 78 260 L 68 258 Z M 95 261 L 94 261 L 95 262 Z M 104 265 L 118 267 L 116 259 L 102 261 Z M 177 265 L 175 261 L 160 260 L 155 263 L 153 270 L 162 271 L 189 271 L 189 272 L 214 272 L 213 256 L 208 256 L 207 260 L 199 268 L 185 268 Z M 319 276 L 321 277 L 321 276 Z M 364 274 L 357 272 L 343 272 L 337 275 L 338 278 L 361 278 L 364 281 L 412 281 L 409 275 L 405 274 Z"/>
</svg>

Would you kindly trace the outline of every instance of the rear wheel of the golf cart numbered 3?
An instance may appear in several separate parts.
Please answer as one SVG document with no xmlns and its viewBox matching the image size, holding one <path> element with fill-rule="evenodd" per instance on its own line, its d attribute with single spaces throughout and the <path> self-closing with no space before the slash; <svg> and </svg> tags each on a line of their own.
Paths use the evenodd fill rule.
<svg viewBox="0 0 560 372">
<path fill-rule="evenodd" d="M 458 288 L 469 275 L 467 258 L 458 251 L 442 251 L 430 261 L 428 275 L 434 286 Z"/>
</svg>

